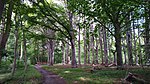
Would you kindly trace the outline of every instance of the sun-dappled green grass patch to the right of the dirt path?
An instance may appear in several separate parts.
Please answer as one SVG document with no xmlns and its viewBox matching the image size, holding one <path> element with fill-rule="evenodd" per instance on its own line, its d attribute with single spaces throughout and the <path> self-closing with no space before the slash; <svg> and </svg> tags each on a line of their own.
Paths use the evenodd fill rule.
<svg viewBox="0 0 150 84">
<path fill-rule="evenodd" d="M 90 67 L 66 68 L 63 66 L 43 66 L 44 69 L 52 71 L 63 77 L 68 84 L 114 84 L 121 82 L 128 73 L 126 70 L 97 70 L 90 73 Z M 149 69 L 150 70 L 150 69 Z M 129 70 L 131 73 L 139 74 L 143 79 L 150 81 L 150 71 L 147 69 Z"/>
</svg>

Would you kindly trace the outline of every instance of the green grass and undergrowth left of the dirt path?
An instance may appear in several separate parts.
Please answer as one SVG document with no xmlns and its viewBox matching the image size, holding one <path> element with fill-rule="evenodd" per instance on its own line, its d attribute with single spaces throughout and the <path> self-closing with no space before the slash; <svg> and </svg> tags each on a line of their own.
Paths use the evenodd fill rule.
<svg viewBox="0 0 150 84">
<path fill-rule="evenodd" d="M 29 66 L 27 72 L 23 68 L 17 69 L 13 77 L 10 73 L 7 74 L 8 76 L 0 74 L 0 81 L 3 81 L 3 84 L 39 84 L 42 78 L 33 66 Z"/>
</svg>

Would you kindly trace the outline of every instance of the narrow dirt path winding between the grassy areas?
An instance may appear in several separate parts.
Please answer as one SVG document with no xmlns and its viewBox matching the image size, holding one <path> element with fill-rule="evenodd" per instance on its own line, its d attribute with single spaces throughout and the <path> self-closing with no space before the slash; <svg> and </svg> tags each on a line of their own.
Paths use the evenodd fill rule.
<svg viewBox="0 0 150 84">
<path fill-rule="evenodd" d="M 62 77 L 44 70 L 40 65 L 36 64 L 35 68 L 43 75 L 43 84 L 66 84 Z"/>
</svg>

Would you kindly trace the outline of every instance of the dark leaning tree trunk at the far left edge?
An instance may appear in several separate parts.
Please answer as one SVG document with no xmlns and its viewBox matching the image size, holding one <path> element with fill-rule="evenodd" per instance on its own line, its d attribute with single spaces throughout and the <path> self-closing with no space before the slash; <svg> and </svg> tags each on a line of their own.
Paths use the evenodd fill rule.
<svg viewBox="0 0 150 84">
<path fill-rule="evenodd" d="M 10 30 L 11 30 L 12 10 L 13 10 L 13 0 L 10 0 L 8 12 L 7 12 L 6 29 L 5 29 L 4 33 L 2 34 L 1 43 L 0 43 L 0 63 L 2 60 L 3 53 L 5 51 L 5 46 L 6 46 L 9 34 L 10 34 Z"/>
</svg>

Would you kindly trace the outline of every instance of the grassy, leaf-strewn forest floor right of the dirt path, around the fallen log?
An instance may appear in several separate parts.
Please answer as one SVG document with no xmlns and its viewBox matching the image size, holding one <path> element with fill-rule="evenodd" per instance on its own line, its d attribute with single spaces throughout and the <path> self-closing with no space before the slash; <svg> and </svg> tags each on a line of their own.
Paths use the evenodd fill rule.
<svg viewBox="0 0 150 84">
<path fill-rule="evenodd" d="M 91 65 L 81 65 L 71 68 L 71 65 L 55 64 L 54 66 L 42 65 L 47 71 L 58 74 L 66 80 L 67 84 L 130 84 L 123 83 L 128 73 L 139 75 L 141 79 L 150 82 L 150 67 L 128 67 L 117 70 L 116 67 L 97 66 L 97 70 L 91 72 Z M 133 84 L 141 84 L 134 82 Z M 148 83 L 149 84 L 149 83 Z"/>
</svg>

